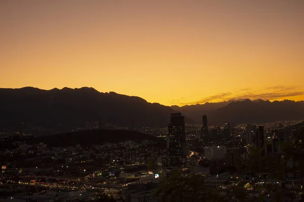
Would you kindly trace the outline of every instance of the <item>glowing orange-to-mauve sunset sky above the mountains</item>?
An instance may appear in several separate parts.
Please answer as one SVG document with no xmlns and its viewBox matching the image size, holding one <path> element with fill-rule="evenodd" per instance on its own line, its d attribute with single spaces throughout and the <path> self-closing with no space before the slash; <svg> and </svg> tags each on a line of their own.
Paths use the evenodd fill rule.
<svg viewBox="0 0 304 202">
<path fill-rule="evenodd" d="M 304 100 L 303 0 L 0 0 L 0 87 Z"/>
</svg>

